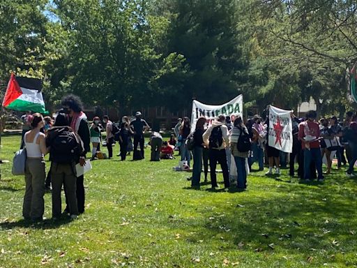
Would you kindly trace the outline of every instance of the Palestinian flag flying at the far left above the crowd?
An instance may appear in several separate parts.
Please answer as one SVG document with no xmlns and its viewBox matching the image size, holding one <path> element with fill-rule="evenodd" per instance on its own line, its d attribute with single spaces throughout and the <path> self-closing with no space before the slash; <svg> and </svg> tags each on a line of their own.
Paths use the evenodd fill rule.
<svg viewBox="0 0 357 268">
<path fill-rule="evenodd" d="M 42 81 L 28 77 L 15 77 L 11 74 L 3 107 L 17 111 L 45 113 L 45 102 L 42 96 Z"/>
</svg>

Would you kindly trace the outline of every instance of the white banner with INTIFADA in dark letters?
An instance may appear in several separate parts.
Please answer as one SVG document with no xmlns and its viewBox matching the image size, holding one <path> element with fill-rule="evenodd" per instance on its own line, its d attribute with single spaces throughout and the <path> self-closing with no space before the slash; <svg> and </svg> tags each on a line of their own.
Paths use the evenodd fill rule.
<svg viewBox="0 0 357 268">
<path fill-rule="evenodd" d="M 237 115 L 243 118 L 243 95 L 236 96 L 233 100 L 222 105 L 207 105 L 199 101 L 192 101 L 191 131 L 195 131 L 199 117 L 206 117 L 209 121 L 208 125 L 211 125 L 211 122 L 220 114 L 229 116 L 231 119 Z"/>
</svg>

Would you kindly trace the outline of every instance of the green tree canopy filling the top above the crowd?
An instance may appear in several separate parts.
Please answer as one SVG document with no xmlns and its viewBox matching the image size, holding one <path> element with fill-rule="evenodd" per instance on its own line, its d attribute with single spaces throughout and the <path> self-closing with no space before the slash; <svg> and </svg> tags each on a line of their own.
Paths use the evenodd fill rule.
<svg viewBox="0 0 357 268">
<path fill-rule="evenodd" d="M 356 108 L 357 4 L 307 0 L 29 0 L 0 3 L 0 80 L 44 80 L 50 107 L 189 108 L 192 98 L 321 114 Z"/>
</svg>

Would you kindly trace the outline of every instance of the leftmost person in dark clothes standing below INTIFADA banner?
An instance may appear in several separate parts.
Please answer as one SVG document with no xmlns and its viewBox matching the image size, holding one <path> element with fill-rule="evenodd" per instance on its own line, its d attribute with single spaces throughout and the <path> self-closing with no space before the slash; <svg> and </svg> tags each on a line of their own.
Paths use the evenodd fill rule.
<svg viewBox="0 0 357 268">
<path fill-rule="evenodd" d="M 199 189 L 199 181 L 201 180 L 202 172 L 202 155 L 204 149 L 204 140 L 202 135 L 204 134 L 204 124 L 206 124 L 205 117 L 199 117 L 196 123 L 195 132 L 193 135 L 193 171 L 192 171 L 192 181 L 191 187 Z"/>
</svg>

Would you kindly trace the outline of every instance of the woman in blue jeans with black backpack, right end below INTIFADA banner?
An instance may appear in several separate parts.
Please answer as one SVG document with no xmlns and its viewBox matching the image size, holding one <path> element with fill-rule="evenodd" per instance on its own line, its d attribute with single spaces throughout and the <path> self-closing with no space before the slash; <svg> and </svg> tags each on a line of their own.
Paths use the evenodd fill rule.
<svg viewBox="0 0 357 268">
<path fill-rule="evenodd" d="M 234 156 L 238 173 L 238 188 L 247 188 L 247 170 L 245 170 L 245 159 L 249 156 L 251 147 L 248 129 L 244 126 L 242 117 L 236 117 L 234 127 L 229 137 L 231 154 Z"/>
</svg>

